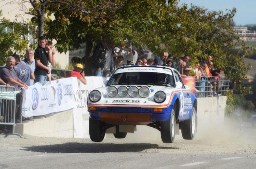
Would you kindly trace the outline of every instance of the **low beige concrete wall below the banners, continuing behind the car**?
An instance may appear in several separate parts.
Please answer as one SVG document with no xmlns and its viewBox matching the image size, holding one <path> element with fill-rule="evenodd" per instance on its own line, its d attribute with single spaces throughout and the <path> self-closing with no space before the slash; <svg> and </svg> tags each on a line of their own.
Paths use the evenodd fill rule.
<svg viewBox="0 0 256 169">
<path fill-rule="evenodd" d="M 226 96 L 201 97 L 198 99 L 198 128 L 211 123 L 223 123 L 226 107 Z M 44 137 L 73 137 L 73 110 L 59 112 L 50 117 L 35 119 L 28 123 L 16 124 L 15 132 L 21 135 Z M 148 126 L 137 126 L 137 131 L 128 134 L 130 139 L 160 137 L 160 132 Z M 108 134 L 107 137 L 112 137 Z"/>
</svg>

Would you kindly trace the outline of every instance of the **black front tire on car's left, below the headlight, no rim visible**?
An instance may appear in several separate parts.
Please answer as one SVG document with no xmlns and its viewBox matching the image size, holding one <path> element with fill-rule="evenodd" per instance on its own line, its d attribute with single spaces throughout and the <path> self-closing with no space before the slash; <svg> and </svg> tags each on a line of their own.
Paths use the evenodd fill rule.
<svg viewBox="0 0 256 169">
<path fill-rule="evenodd" d="M 90 139 L 95 142 L 101 142 L 105 137 L 106 130 L 104 123 L 100 120 L 89 119 L 89 135 Z"/>
</svg>

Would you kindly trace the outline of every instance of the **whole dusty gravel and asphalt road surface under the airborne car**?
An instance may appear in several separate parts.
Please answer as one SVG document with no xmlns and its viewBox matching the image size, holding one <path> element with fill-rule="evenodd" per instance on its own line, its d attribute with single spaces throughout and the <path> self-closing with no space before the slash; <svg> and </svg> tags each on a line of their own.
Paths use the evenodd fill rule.
<svg viewBox="0 0 256 169">
<path fill-rule="evenodd" d="M 0 169 L 255 169 L 256 129 L 209 128 L 194 140 L 165 144 L 157 130 L 137 128 L 125 139 L 112 135 L 90 139 L 0 135 Z"/>
</svg>

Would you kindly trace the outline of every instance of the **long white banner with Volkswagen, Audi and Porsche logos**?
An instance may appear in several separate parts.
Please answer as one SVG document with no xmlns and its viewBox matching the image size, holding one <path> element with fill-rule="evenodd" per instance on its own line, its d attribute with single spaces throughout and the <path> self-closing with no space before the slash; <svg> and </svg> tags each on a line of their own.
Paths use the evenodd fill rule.
<svg viewBox="0 0 256 169">
<path fill-rule="evenodd" d="M 35 83 L 23 89 L 22 116 L 31 117 L 61 112 L 73 108 L 72 78 L 53 80 L 42 86 Z"/>
</svg>

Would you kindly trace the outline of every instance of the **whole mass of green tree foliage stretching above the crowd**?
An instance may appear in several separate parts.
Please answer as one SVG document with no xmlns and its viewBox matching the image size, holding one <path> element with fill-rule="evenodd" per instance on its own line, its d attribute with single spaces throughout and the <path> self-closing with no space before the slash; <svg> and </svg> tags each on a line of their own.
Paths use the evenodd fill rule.
<svg viewBox="0 0 256 169">
<path fill-rule="evenodd" d="M 147 46 L 154 54 L 168 50 L 176 58 L 192 56 L 192 63 L 213 56 L 215 67 L 239 85 L 245 79 L 249 66 L 243 57 L 251 49 L 244 42 L 236 52 L 239 36 L 232 28 L 236 9 L 208 11 L 177 0 L 30 0 L 35 3 L 29 12 L 38 21 L 38 10 L 44 7 L 44 33 L 57 40 L 59 52 L 78 49 L 87 44 L 86 67 L 93 45 L 102 37 L 115 44 L 127 38 L 137 48 Z M 32 4 L 33 5 L 33 4 Z M 49 16 L 54 16 L 50 19 Z M 165 46 L 162 48 L 161 46 Z M 243 53 L 242 56 L 239 54 Z"/>
</svg>

